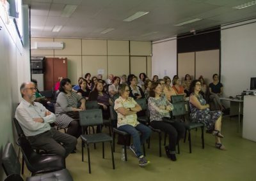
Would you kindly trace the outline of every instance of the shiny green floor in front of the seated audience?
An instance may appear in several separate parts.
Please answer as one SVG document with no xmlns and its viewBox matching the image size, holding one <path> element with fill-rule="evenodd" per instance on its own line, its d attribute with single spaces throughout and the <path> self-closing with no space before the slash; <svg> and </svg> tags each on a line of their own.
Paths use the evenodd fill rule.
<svg viewBox="0 0 256 181">
<path fill-rule="evenodd" d="M 108 129 L 104 129 L 108 133 Z M 256 180 L 256 143 L 245 140 L 237 133 L 237 118 L 224 119 L 223 144 L 226 151 L 214 148 L 214 137 L 205 134 L 205 148 L 202 149 L 200 130 L 192 131 L 192 154 L 188 141 L 180 141 L 177 161 L 170 161 L 162 147 L 162 157 L 158 152 L 158 135 L 153 133 L 151 148 L 146 149 L 150 164 L 138 166 L 138 159 L 127 150 L 128 161 L 121 161 L 121 146 L 116 145 L 115 164 L 112 169 L 109 144 L 106 144 L 105 159 L 102 159 L 102 145 L 91 148 L 92 174 L 88 173 L 87 154 L 81 161 L 81 140 L 77 153 L 67 157 L 67 169 L 74 180 Z M 163 142 L 163 141 L 162 141 Z M 163 144 L 162 144 L 163 145 Z M 92 145 L 93 146 L 93 145 Z"/>
</svg>

